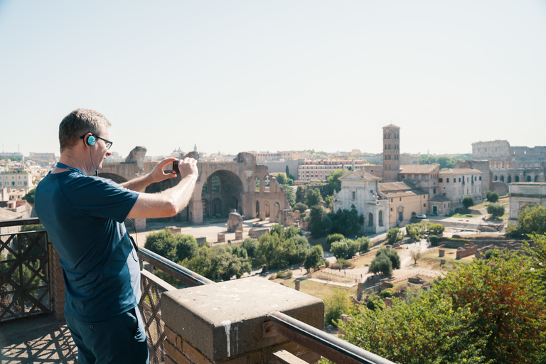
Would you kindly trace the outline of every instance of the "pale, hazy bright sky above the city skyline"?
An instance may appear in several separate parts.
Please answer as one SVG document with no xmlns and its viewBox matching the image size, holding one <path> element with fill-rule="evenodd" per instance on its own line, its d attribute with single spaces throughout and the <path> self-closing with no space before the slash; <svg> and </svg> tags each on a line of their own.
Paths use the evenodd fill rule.
<svg viewBox="0 0 546 364">
<path fill-rule="evenodd" d="M 546 145 L 546 0 L 0 0 L 2 151 L 471 153 Z"/>
</svg>

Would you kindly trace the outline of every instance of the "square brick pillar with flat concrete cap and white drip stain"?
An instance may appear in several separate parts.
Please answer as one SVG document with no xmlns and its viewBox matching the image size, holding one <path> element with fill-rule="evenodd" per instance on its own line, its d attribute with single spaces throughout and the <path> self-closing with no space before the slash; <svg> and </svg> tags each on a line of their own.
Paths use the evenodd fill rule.
<svg viewBox="0 0 546 364">
<path fill-rule="evenodd" d="M 165 292 L 165 363 L 269 363 L 277 350 L 317 362 L 320 355 L 267 329 L 272 311 L 324 327 L 320 299 L 262 277 Z"/>
</svg>

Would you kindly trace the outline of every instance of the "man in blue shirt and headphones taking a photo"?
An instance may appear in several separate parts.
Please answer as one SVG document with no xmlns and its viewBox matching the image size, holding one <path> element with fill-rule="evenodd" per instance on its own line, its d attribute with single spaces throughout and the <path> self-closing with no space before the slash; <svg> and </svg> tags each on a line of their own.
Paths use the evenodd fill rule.
<svg viewBox="0 0 546 364">
<path fill-rule="evenodd" d="M 77 109 L 59 125 L 60 161 L 36 188 L 35 206 L 60 257 L 65 278 L 65 318 L 78 348 L 78 362 L 148 363 L 139 314 L 139 259 L 125 218 L 164 218 L 188 204 L 198 170 L 195 159 L 179 164 L 181 181 L 161 193 L 138 193 L 176 177 L 159 162 L 151 173 L 114 183 L 87 176 L 102 167 L 112 142 L 110 122 Z"/>
</svg>

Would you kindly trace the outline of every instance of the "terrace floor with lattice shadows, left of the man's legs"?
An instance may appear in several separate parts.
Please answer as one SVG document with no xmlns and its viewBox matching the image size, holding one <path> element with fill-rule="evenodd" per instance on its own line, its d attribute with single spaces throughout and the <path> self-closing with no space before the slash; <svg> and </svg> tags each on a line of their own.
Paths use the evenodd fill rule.
<svg viewBox="0 0 546 364">
<path fill-rule="evenodd" d="M 0 363 L 77 363 L 77 348 L 64 322 L 53 315 L 0 324 Z"/>
</svg>

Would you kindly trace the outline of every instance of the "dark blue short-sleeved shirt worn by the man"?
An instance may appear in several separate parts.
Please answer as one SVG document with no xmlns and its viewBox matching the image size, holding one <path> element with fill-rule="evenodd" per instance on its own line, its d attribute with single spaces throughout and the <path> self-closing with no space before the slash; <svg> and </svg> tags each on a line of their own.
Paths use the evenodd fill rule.
<svg viewBox="0 0 546 364">
<path fill-rule="evenodd" d="M 139 303 L 139 259 L 123 224 L 138 196 L 76 171 L 49 173 L 38 183 L 36 213 L 59 254 L 65 313 L 73 318 L 102 321 Z"/>
</svg>

